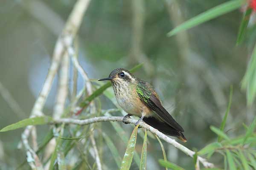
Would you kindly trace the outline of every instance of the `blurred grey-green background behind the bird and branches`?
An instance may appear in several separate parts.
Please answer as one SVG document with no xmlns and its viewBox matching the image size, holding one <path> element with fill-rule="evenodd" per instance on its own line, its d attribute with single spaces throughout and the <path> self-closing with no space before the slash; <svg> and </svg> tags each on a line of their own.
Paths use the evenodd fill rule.
<svg viewBox="0 0 256 170">
<path fill-rule="evenodd" d="M 251 34 L 246 42 L 236 46 L 242 9 L 173 37 L 166 36 L 180 23 L 224 2 L 91 0 L 77 38 L 79 61 L 89 77 L 95 79 L 107 77 L 115 68 L 129 69 L 143 62 L 143 68 L 135 75 L 154 85 L 168 111 L 175 108 L 172 115 L 183 126 L 188 139 L 184 145 L 197 150 L 216 140 L 209 126 L 220 126 L 230 85 L 233 85 L 233 102 L 225 130 L 232 129 L 227 134 L 238 136 L 243 133 L 240 130 L 242 122 L 249 124 L 255 115 L 255 107 L 246 107 L 245 92 L 241 91 L 241 79 L 252 50 L 250 44 L 255 37 Z M 1 0 L 1 89 L 5 91 L 3 88 L 6 88 L 20 108 L 15 111 L 1 93 L 0 128 L 29 117 L 47 75 L 55 42 L 74 3 L 72 0 Z M 81 88 L 82 79 L 79 77 L 78 89 Z M 47 115 L 52 113 L 56 89 L 57 81 L 44 109 Z M 115 107 L 106 97 L 100 99 L 104 109 Z M 112 133 L 110 123 L 102 125 L 122 156 L 126 144 Z M 134 128 L 120 125 L 127 136 Z M 39 126 L 39 143 L 47 130 L 47 126 Z M 22 131 L 0 133 L 0 169 L 11 170 L 26 159 L 24 151 L 17 149 Z M 138 138 L 138 153 L 142 143 L 143 139 Z M 169 161 L 193 169 L 191 158 L 170 144 L 164 143 L 164 146 Z M 148 169 L 161 169 L 157 160 L 162 157 L 157 140 L 151 139 Z M 213 161 L 222 164 L 218 157 Z M 104 144 L 102 162 L 109 168 L 117 168 Z M 134 164 L 132 168 L 138 169 Z"/>
</svg>

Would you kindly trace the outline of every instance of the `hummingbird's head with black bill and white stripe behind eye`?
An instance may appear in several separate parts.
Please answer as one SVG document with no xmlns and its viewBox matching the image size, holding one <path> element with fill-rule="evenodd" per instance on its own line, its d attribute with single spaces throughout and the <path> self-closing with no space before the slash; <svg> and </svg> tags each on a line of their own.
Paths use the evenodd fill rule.
<svg viewBox="0 0 256 170">
<path fill-rule="evenodd" d="M 136 82 L 136 78 L 128 70 L 124 68 L 116 68 L 111 71 L 109 76 L 104 79 L 98 79 L 99 81 L 111 80 L 112 84 L 129 84 Z"/>
</svg>

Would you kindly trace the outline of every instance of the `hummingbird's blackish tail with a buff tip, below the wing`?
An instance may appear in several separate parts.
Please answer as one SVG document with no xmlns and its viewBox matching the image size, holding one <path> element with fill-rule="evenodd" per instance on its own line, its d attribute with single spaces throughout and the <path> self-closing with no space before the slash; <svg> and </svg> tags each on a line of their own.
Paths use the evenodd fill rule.
<svg viewBox="0 0 256 170">
<path fill-rule="evenodd" d="M 183 132 L 175 130 L 165 122 L 161 122 L 160 120 L 154 117 L 144 117 L 143 121 L 166 135 L 175 136 L 178 139 L 180 139 L 182 142 L 187 141 Z"/>
</svg>

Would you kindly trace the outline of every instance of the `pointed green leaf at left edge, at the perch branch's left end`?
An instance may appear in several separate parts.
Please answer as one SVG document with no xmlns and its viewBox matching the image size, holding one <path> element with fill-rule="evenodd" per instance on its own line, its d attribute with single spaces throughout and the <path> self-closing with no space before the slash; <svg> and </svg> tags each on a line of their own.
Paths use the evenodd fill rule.
<svg viewBox="0 0 256 170">
<path fill-rule="evenodd" d="M 0 132 L 6 132 L 9 130 L 15 130 L 21 127 L 26 127 L 29 125 L 44 125 L 47 123 L 52 122 L 52 118 L 49 116 L 40 116 L 40 117 L 33 117 L 33 118 L 29 118 L 29 119 L 24 119 L 21 120 L 17 123 L 14 123 L 12 125 L 8 125 L 6 127 L 4 127 L 3 129 L 0 130 Z"/>
</svg>

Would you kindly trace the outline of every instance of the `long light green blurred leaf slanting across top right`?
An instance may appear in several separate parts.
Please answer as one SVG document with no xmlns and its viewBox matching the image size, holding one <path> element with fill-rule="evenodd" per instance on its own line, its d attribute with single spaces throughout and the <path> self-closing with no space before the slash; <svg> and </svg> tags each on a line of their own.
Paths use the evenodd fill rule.
<svg viewBox="0 0 256 170">
<path fill-rule="evenodd" d="M 185 31 L 189 28 L 198 26 L 199 24 L 209 21 L 220 15 L 233 11 L 239 8 L 243 3 L 244 3 L 244 0 L 230 0 L 229 2 L 222 3 L 221 5 L 215 6 L 209 9 L 208 11 L 205 11 L 199 14 L 198 16 L 191 18 L 190 20 L 187 20 L 186 22 L 182 23 L 180 26 L 177 26 L 172 31 L 170 31 L 167 34 L 167 36 L 171 37 L 172 35 L 175 35 L 180 31 Z"/>
</svg>

